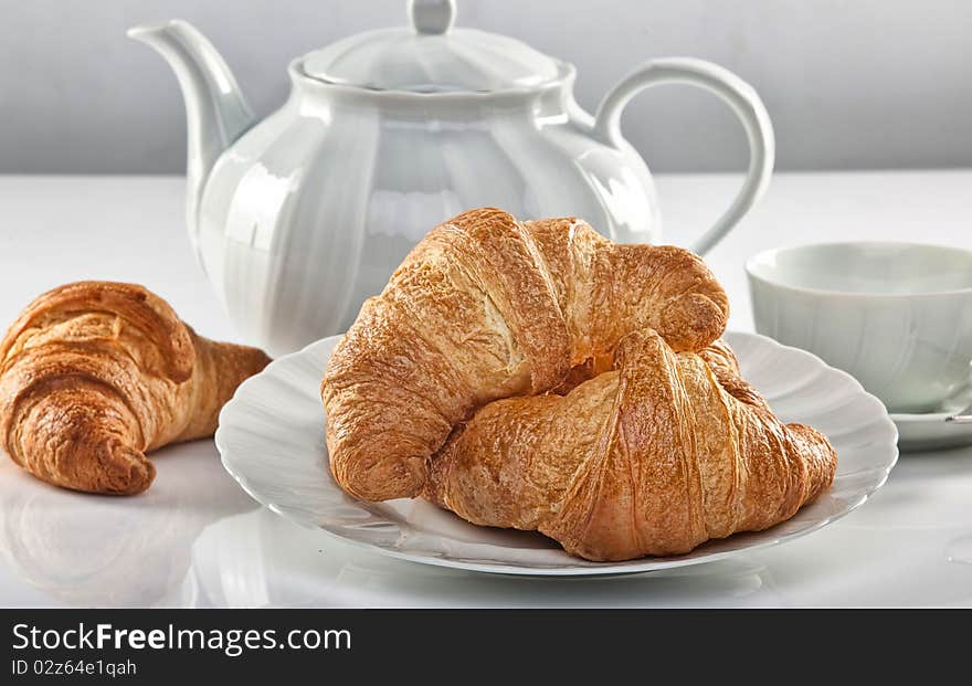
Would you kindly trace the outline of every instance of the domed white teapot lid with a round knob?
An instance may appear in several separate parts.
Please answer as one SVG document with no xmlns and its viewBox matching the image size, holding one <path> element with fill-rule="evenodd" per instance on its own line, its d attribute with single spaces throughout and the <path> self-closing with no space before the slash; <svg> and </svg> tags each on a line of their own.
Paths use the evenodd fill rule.
<svg viewBox="0 0 972 686">
<path fill-rule="evenodd" d="M 453 29 L 455 0 L 409 0 L 411 27 L 342 39 L 304 59 L 327 83 L 412 93 L 530 88 L 557 78 L 560 63 L 515 39 Z"/>
</svg>

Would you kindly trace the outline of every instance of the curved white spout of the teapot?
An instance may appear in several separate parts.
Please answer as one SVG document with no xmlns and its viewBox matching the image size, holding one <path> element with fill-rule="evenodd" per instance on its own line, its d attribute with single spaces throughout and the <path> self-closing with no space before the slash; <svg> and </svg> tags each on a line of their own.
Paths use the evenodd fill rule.
<svg viewBox="0 0 972 686">
<path fill-rule="evenodd" d="M 253 125 L 254 117 L 220 53 L 188 22 L 173 19 L 141 24 L 129 29 L 128 36 L 158 51 L 182 88 L 189 138 L 187 210 L 194 240 L 207 177 L 223 150 Z"/>
</svg>

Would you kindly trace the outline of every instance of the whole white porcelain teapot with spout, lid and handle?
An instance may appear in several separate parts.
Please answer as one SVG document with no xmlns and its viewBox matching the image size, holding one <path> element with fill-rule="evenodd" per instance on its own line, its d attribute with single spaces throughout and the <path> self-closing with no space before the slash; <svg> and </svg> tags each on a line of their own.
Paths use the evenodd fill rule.
<svg viewBox="0 0 972 686">
<path fill-rule="evenodd" d="M 715 93 L 749 138 L 742 189 L 693 250 L 710 249 L 767 187 L 769 116 L 720 66 L 648 62 L 591 116 L 574 101 L 572 65 L 510 38 L 453 29 L 454 0 L 411 0 L 408 10 L 410 27 L 292 62 L 290 95 L 263 122 L 192 27 L 129 31 L 168 60 L 182 88 L 199 261 L 241 334 L 272 355 L 346 329 L 429 229 L 469 208 L 577 215 L 615 241 L 658 242 L 652 178 L 619 126 L 648 86 Z"/>
</svg>

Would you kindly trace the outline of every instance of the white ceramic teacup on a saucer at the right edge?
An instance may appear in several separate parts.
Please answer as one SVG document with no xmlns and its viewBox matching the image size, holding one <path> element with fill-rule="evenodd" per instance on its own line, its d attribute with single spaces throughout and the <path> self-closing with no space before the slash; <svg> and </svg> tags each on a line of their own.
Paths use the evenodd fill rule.
<svg viewBox="0 0 972 686">
<path fill-rule="evenodd" d="M 757 331 L 852 373 L 889 411 L 934 411 L 969 383 L 972 251 L 824 243 L 746 271 Z"/>
</svg>

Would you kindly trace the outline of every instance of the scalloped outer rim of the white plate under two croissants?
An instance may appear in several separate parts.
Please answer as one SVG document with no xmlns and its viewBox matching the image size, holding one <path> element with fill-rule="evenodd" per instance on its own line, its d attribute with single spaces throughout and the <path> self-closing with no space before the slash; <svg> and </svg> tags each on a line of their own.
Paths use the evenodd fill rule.
<svg viewBox="0 0 972 686">
<path fill-rule="evenodd" d="M 782 534 L 778 536 L 772 536 L 773 529 L 776 527 L 770 527 L 769 529 L 764 529 L 762 531 L 747 531 L 740 532 L 737 536 L 750 536 L 750 537 L 765 537 L 765 540 L 757 540 L 751 542 L 750 545 L 732 548 L 728 550 L 718 550 L 709 553 L 702 552 L 698 553 L 698 551 L 704 548 L 707 543 L 702 543 L 702 546 L 696 548 L 695 550 L 680 555 L 680 556 L 669 556 L 663 558 L 640 558 L 636 560 L 627 560 L 622 562 L 590 562 L 585 560 L 570 558 L 574 560 L 574 564 L 564 564 L 562 567 L 537 567 L 537 566 L 524 566 L 524 564 L 511 564 L 503 561 L 475 561 L 469 559 L 461 559 L 461 558 L 448 558 L 441 557 L 435 555 L 430 555 L 427 552 L 409 552 L 405 550 L 389 548 L 384 546 L 379 546 L 370 541 L 359 540 L 352 536 L 349 536 L 342 529 L 344 526 L 335 526 L 332 529 L 328 529 L 319 524 L 307 520 L 305 517 L 300 517 L 298 514 L 293 511 L 295 508 L 293 506 L 288 506 L 285 503 L 278 503 L 274 499 L 267 497 L 265 494 L 261 492 L 258 487 L 255 487 L 250 477 L 234 466 L 232 451 L 226 446 L 226 436 L 232 431 L 232 424 L 230 421 L 224 421 L 226 418 L 231 416 L 233 412 L 237 410 L 239 407 L 244 405 L 244 397 L 249 392 L 250 388 L 256 387 L 260 383 L 265 382 L 268 378 L 274 377 L 275 372 L 288 365 L 294 363 L 297 359 L 303 359 L 304 357 L 308 357 L 314 355 L 318 348 L 326 347 L 332 340 L 339 339 L 342 335 L 330 336 L 327 338 L 323 338 L 320 340 L 316 340 L 311 344 L 308 344 L 300 350 L 296 352 L 292 352 L 286 356 L 282 356 L 275 360 L 273 360 L 267 367 L 260 372 L 246 379 L 240 387 L 236 389 L 233 398 L 228 402 L 222 411 L 220 412 L 219 418 L 219 426 L 215 432 L 215 444 L 216 448 L 220 452 L 220 460 L 223 465 L 223 468 L 232 476 L 241 486 L 241 488 L 254 500 L 275 513 L 276 515 L 284 517 L 285 519 L 293 521 L 304 528 L 308 529 L 317 529 L 326 534 L 330 538 L 335 538 L 337 540 L 344 541 L 346 543 L 350 543 L 357 548 L 370 549 L 381 555 L 406 560 L 410 562 L 416 562 L 421 564 L 431 564 L 434 567 L 444 567 L 451 569 L 461 569 L 467 571 L 476 571 L 476 572 L 486 572 L 493 574 L 507 574 L 507 576 L 542 576 L 542 577 L 604 577 L 604 576 L 622 576 L 622 574 L 637 574 L 637 573 L 646 573 L 651 571 L 662 571 L 668 569 L 675 569 L 679 567 L 688 567 L 694 564 L 702 564 L 707 562 L 714 562 L 717 560 L 730 558 L 733 556 L 744 555 L 754 550 L 760 550 L 764 548 L 769 548 L 772 546 L 778 546 L 791 540 L 795 540 L 809 534 L 813 534 L 822 529 L 823 527 L 837 521 L 838 519 L 847 516 L 862 505 L 868 500 L 868 498 L 874 495 L 884 484 L 886 483 L 888 475 L 891 469 L 897 464 L 899 457 L 899 451 L 897 448 L 897 440 L 898 440 L 898 430 L 895 423 L 891 421 L 890 416 L 885 411 L 883 416 L 879 419 L 881 423 L 885 424 L 885 429 L 889 430 L 888 439 L 890 443 L 890 460 L 886 465 L 878 465 L 871 467 L 871 469 L 879 469 L 879 476 L 869 484 L 866 488 L 864 488 L 855 499 L 849 502 L 845 509 L 838 513 L 831 514 L 828 516 L 822 517 L 809 524 L 806 527 L 791 531 L 789 534 Z M 823 360 L 821 360 L 815 355 L 800 349 L 794 348 L 792 346 L 785 346 L 772 338 L 767 336 L 762 336 L 760 334 L 753 334 L 750 331 L 726 331 L 725 337 L 729 340 L 730 346 L 736 349 L 739 346 L 740 340 L 752 339 L 759 342 L 760 345 L 768 345 L 770 348 L 779 350 L 780 353 L 785 355 L 797 355 L 804 357 L 805 359 L 812 361 L 815 367 L 818 368 L 820 371 L 823 371 L 827 374 L 833 376 L 834 378 L 841 378 L 844 382 L 849 382 L 853 391 L 864 398 L 869 398 L 873 403 L 876 403 L 875 409 L 877 407 L 884 408 L 883 403 L 868 393 L 860 383 L 852 377 L 849 373 L 842 371 L 839 369 L 835 369 L 826 365 Z M 736 342 L 733 342 L 736 339 Z M 323 409 L 321 409 L 323 415 Z M 321 416 L 321 420 L 324 418 Z M 323 426 L 323 423 L 321 423 Z M 877 450 L 877 447 L 875 448 Z M 839 460 L 839 455 L 838 455 Z M 324 456 L 321 456 L 321 465 L 324 464 Z M 839 466 L 838 466 L 839 469 Z M 335 487 L 337 487 L 335 485 Z M 362 509 L 364 509 L 363 504 Z M 369 510 L 371 511 L 371 510 Z M 780 525 L 778 525 L 780 526 Z M 731 537 L 729 537 L 731 538 Z M 727 539 L 717 539 L 717 540 L 727 540 Z M 566 553 L 564 553 L 566 555 Z"/>
</svg>

